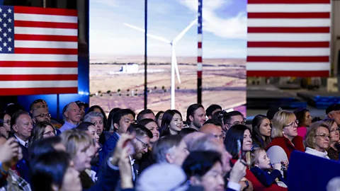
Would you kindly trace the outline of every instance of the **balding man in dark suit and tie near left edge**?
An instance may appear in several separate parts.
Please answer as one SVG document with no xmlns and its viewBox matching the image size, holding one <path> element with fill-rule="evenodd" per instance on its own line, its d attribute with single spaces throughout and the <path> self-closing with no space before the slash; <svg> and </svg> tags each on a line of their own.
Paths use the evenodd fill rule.
<svg viewBox="0 0 340 191">
<path fill-rule="evenodd" d="M 23 151 L 23 159 L 18 161 L 16 166 L 17 170 L 21 177 L 30 183 L 28 174 L 28 163 L 30 161 L 28 153 L 28 139 L 30 138 L 30 133 L 33 129 L 33 121 L 28 112 L 23 110 L 15 112 L 11 118 L 11 129 Z"/>
</svg>

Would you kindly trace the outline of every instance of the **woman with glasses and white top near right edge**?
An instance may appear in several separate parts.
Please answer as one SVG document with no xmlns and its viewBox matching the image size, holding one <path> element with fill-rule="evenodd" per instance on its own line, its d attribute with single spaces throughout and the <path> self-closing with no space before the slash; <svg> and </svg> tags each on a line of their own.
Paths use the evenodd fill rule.
<svg viewBox="0 0 340 191">
<path fill-rule="evenodd" d="M 305 153 L 329 159 L 326 150 L 329 148 L 330 139 L 329 125 L 322 121 L 314 122 L 306 134 Z"/>
</svg>

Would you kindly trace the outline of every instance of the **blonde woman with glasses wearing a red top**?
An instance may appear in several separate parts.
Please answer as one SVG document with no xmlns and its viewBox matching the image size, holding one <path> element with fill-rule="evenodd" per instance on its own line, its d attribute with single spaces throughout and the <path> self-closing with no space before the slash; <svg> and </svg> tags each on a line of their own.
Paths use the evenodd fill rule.
<svg viewBox="0 0 340 191">
<path fill-rule="evenodd" d="M 273 164 L 289 160 L 290 154 L 297 151 L 305 151 L 302 137 L 297 136 L 297 124 L 299 122 L 293 112 L 281 110 L 273 117 L 271 128 L 271 143 L 266 147 L 267 155 Z"/>
</svg>

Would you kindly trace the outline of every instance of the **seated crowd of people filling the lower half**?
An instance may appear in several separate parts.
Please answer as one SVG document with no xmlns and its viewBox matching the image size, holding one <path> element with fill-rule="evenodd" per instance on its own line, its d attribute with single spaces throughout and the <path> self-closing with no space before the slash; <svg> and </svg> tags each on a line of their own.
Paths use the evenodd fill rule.
<svg viewBox="0 0 340 191">
<path fill-rule="evenodd" d="M 0 190 L 288 190 L 293 151 L 339 161 L 340 105 L 323 120 L 273 107 L 246 125 L 220 105 L 103 109 L 76 101 L 63 122 L 47 102 L 0 113 Z"/>
</svg>

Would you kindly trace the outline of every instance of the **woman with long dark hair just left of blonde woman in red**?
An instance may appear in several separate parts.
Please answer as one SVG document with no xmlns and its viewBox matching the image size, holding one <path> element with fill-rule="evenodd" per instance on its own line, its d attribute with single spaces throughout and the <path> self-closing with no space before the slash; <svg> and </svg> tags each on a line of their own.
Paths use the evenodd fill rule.
<svg viewBox="0 0 340 191">
<path fill-rule="evenodd" d="M 251 138 L 254 148 L 265 149 L 271 143 L 271 121 L 266 115 L 256 115 L 251 125 L 253 127 Z"/>
</svg>

